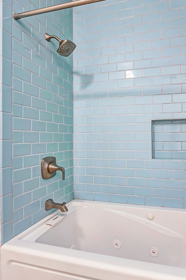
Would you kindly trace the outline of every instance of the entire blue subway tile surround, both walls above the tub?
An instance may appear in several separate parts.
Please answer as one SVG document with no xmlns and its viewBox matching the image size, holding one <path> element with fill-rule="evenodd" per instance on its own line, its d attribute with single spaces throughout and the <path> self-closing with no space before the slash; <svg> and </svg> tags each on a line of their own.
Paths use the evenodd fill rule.
<svg viewBox="0 0 186 280">
<path fill-rule="evenodd" d="M 185 1 L 80 6 L 73 29 L 72 9 L 12 19 L 58 3 L 1 1 L 2 243 L 46 216 L 49 198 L 186 208 Z M 73 56 L 45 32 L 74 32 Z M 41 178 L 49 155 L 65 181 Z"/>
</svg>

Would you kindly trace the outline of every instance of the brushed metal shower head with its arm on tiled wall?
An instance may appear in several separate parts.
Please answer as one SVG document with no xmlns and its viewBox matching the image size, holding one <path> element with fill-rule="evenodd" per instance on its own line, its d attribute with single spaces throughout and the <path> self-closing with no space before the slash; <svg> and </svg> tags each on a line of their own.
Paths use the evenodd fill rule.
<svg viewBox="0 0 186 280">
<path fill-rule="evenodd" d="M 57 49 L 57 53 L 62 55 L 62 56 L 69 56 L 74 49 L 76 48 L 76 45 L 74 44 L 74 42 L 70 41 L 70 40 L 60 40 L 60 38 L 58 38 L 55 35 L 49 35 L 47 33 L 45 33 L 45 39 L 47 41 L 50 42 L 50 39 L 56 39 L 59 42 L 59 47 Z"/>
</svg>

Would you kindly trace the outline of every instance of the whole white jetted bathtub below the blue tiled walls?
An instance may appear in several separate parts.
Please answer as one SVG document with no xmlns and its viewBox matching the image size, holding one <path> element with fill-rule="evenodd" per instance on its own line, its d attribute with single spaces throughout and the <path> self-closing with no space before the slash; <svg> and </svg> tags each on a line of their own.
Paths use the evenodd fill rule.
<svg viewBox="0 0 186 280">
<path fill-rule="evenodd" d="M 1 247 L 1 280 L 186 279 L 185 209 L 80 200 L 67 207 Z"/>
</svg>

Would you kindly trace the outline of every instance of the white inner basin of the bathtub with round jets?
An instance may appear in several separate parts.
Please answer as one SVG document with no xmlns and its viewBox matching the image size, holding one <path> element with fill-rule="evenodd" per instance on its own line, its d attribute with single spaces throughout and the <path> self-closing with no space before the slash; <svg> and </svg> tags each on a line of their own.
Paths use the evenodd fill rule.
<svg viewBox="0 0 186 280">
<path fill-rule="evenodd" d="M 185 210 L 76 201 L 68 203 L 68 208 L 67 213 L 57 212 L 63 219 L 56 226 L 43 222 L 20 239 L 186 268 Z M 149 213 L 152 220 L 147 218 Z M 152 247 L 158 250 L 154 253 Z"/>
</svg>

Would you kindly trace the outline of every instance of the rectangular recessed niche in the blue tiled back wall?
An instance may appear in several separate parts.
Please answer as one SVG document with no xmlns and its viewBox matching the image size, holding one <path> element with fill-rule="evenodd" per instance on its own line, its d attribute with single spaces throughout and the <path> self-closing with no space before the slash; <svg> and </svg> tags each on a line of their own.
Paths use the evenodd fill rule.
<svg viewBox="0 0 186 280">
<path fill-rule="evenodd" d="M 186 159 L 186 119 L 152 120 L 152 158 Z"/>
</svg>

